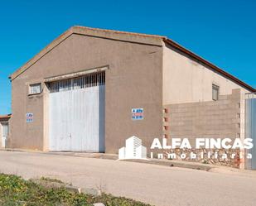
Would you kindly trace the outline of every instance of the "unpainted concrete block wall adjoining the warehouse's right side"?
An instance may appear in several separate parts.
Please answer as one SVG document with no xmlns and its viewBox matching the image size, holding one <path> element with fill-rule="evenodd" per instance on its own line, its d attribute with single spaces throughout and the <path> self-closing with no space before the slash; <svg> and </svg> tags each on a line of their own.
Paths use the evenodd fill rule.
<svg viewBox="0 0 256 206">
<path fill-rule="evenodd" d="M 196 138 L 243 138 L 244 103 L 242 97 L 243 93 L 240 89 L 233 89 L 229 95 L 220 95 L 217 101 L 164 105 L 163 137 L 167 139 L 188 138 L 194 148 Z M 195 149 L 192 151 L 197 152 Z M 198 150 L 199 152 L 201 150 Z M 177 153 L 181 155 L 181 151 L 177 151 Z M 220 162 L 215 160 L 213 162 L 196 159 L 196 161 L 240 166 L 235 160 L 220 160 Z"/>
</svg>

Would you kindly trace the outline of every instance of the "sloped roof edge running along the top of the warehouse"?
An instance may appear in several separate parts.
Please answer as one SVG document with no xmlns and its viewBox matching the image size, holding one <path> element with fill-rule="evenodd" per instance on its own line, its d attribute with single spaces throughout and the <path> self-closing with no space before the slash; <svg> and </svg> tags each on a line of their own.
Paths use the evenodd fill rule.
<svg viewBox="0 0 256 206">
<path fill-rule="evenodd" d="M 224 75 L 226 78 L 233 80 L 235 83 L 243 86 L 245 89 L 249 89 L 252 92 L 255 92 L 256 89 L 249 86 L 249 84 L 244 83 L 243 81 L 237 79 L 232 74 L 225 72 L 225 70 L 220 69 L 219 67 L 211 64 L 209 61 L 201 58 L 199 55 L 187 50 L 185 47 L 180 46 L 175 41 L 168 39 L 167 36 L 157 36 L 157 35 L 147 35 L 141 33 L 133 33 L 126 31 L 114 31 L 114 30 L 105 30 L 98 28 L 91 28 L 85 26 L 72 26 L 69 30 L 65 31 L 62 35 L 56 38 L 56 40 L 52 41 L 51 44 L 46 46 L 43 50 L 41 50 L 37 55 L 35 55 L 31 60 L 27 61 L 25 65 L 23 65 L 20 69 L 17 69 L 9 78 L 11 80 L 16 79 L 17 76 L 22 74 L 31 65 L 35 64 L 37 60 L 40 60 L 42 56 L 46 55 L 50 50 L 54 47 L 58 46 L 62 41 L 68 38 L 72 34 L 79 34 L 85 36 L 98 36 L 107 39 L 114 39 L 119 41 L 128 41 L 128 42 L 136 42 L 140 44 L 154 45 L 154 46 L 162 46 L 162 41 L 166 42 L 168 45 L 176 48 L 176 50 L 180 50 L 182 53 L 189 55 L 191 58 L 200 61 L 201 63 L 210 67 L 210 69 L 215 70 L 217 73 Z"/>
</svg>

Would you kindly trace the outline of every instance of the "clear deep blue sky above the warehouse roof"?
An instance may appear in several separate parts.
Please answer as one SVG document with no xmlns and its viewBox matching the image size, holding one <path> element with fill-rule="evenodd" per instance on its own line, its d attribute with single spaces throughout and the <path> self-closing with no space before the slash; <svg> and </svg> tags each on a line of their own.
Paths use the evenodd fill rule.
<svg viewBox="0 0 256 206">
<path fill-rule="evenodd" d="M 256 88 L 256 1 L 0 2 L 0 114 L 11 113 L 9 74 L 70 26 L 168 36 Z"/>
</svg>

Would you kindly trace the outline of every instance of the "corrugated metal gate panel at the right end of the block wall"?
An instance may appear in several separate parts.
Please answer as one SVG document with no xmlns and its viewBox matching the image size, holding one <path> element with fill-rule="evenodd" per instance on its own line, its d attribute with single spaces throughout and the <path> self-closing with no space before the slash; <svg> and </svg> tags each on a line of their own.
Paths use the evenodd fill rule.
<svg viewBox="0 0 256 206">
<path fill-rule="evenodd" d="M 245 169 L 256 170 L 256 98 L 245 99 L 245 138 L 254 142 L 254 147 L 245 151 L 245 155 L 252 154 L 252 159 L 245 158 Z"/>
</svg>

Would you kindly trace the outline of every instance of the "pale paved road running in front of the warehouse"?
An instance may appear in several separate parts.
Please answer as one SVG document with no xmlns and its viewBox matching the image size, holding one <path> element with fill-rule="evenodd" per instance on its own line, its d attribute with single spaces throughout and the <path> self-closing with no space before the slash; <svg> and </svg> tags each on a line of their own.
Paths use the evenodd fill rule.
<svg viewBox="0 0 256 206">
<path fill-rule="evenodd" d="M 157 206 L 255 206 L 256 178 L 135 162 L 0 151 L 0 172 L 48 176 Z"/>
</svg>

